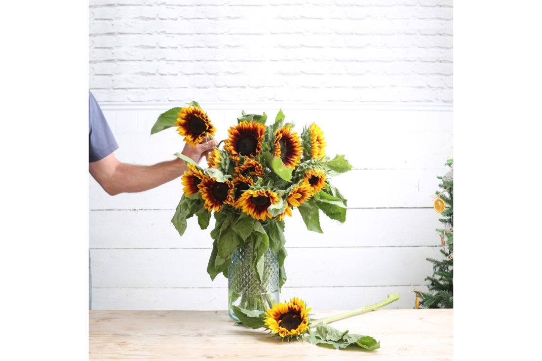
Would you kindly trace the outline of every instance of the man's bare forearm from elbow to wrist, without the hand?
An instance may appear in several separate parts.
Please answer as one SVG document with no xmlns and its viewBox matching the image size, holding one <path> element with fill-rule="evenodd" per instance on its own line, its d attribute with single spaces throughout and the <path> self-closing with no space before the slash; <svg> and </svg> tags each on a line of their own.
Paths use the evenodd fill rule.
<svg viewBox="0 0 542 361">
<path fill-rule="evenodd" d="M 146 191 L 182 176 L 186 170 L 184 160 L 179 158 L 154 165 L 119 163 L 106 191 L 110 195 Z"/>
</svg>

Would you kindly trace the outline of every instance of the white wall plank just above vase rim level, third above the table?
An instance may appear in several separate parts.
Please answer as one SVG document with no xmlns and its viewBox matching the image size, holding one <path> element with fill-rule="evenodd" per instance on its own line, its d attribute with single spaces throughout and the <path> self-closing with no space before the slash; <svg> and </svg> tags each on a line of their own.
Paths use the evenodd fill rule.
<svg viewBox="0 0 542 361">
<path fill-rule="evenodd" d="M 175 210 L 104 210 L 91 211 L 91 248 L 209 248 L 209 227 L 199 228 L 197 218 L 188 220 L 188 228 L 179 237 L 170 220 Z M 286 219 L 288 247 L 328 247 L 333 234 L 334 247 L 434 246 L 440 240 L 435 229 L 440 215 L 433 209 L 349 209 L 340 223 L 324 215 L 320 225 L 324 234 L 307 231 L 294 210 Z M 122 227 L 119 227 L 122 224 Z M 436 227 L 435 227 L 436 228 Z"/>
</svg>

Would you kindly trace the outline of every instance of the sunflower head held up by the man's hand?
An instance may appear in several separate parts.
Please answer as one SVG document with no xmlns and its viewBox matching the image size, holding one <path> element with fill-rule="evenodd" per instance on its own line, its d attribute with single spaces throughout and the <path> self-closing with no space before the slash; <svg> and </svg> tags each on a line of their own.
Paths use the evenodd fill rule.
<svg viewBox="0 0 542 361">
<path fill-rule="evenodd" d="M 177 115 L 179 118 L 174 123 L 178 126 L 177 132 L 184 136 L 186 143 L 194 147 L 205 137 L 215 134 L 216 128 L 211 124 L 203 109 L 189 105 L 188 108 L 180 108 Z"/>
</svg>

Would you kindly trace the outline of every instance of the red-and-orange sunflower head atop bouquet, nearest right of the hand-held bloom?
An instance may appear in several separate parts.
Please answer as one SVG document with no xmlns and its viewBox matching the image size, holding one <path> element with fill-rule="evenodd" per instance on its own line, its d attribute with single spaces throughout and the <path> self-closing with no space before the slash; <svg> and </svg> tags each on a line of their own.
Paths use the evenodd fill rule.
<svg viewBox="0 0 542 361">
<path fill-rule="evenodd" d="M 228 139 L 224 148 L 231 154 L 231 159 L 239 160 L 239 156 L 254 158 L 262 151 L 263 134 L 266 126 L 254 121 L 241 121 L 236 127 L 228 130 Z"/>
</svg>

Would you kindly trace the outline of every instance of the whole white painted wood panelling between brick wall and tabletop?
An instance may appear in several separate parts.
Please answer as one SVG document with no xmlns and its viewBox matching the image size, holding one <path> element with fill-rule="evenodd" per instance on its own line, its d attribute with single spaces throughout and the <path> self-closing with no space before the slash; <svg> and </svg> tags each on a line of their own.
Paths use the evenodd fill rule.
<svg viewBox="0 0 542 361">
<path fill-rule="evenodd" d="M 183 149 L 173 128 L 150 136 L 158 115 L 177 104 L 102 106 L 122 162 L 154 164 Z M 181 105 L 182 106 L 182 105 Z M 205 105 L 203 105 L 205 108 Z M 440 257 L 439 215 L 431 195 L 452 156 L 451 106 L 253 104 L 247 113 L 279 107 L 287 121 L 317 123 L 327 153 L 346 154 L 355 170 L 332 179 L 349 200 L 347 221 L 321 214 L 324 234 L 306 230 L 297 211 L 286 220 L 288 281 L 281 299 L 304 298 L 315 308 L 355 308 L 401 293 L 393 308 L 414 306 L 412 283 L 422 291 L 433 273 L 426 257 Z M 227 136 L 242 105 L 205 110 Z M 170 220 L 182 195 L 180 179 L 138 194 L 107 195 L 89 176 L 89 241 L 93 308 L 112 310 L 224 310 L 227 280 L 207 272 L 209 229 L 196 219 L 179 237 Z"/>
</svg>

